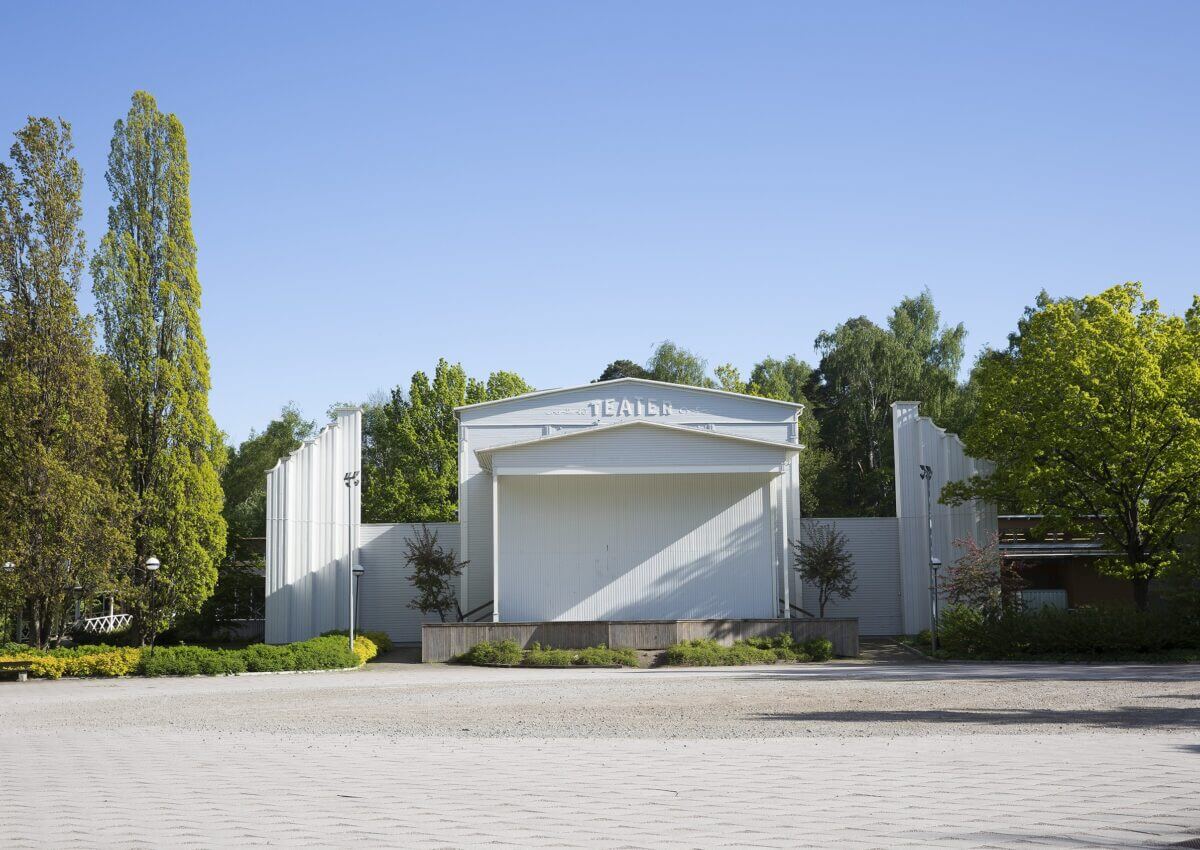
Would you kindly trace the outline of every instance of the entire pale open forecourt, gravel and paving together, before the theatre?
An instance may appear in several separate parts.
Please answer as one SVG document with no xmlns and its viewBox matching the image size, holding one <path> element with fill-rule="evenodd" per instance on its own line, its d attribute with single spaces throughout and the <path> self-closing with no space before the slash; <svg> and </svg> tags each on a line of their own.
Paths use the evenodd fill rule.
<svg viewBox="0 0 1200 850">
<path fill-rule="evenodd" d="M 1195 666 L 0 683 L 5 846 L 1200 846 Z"/>
</svg>

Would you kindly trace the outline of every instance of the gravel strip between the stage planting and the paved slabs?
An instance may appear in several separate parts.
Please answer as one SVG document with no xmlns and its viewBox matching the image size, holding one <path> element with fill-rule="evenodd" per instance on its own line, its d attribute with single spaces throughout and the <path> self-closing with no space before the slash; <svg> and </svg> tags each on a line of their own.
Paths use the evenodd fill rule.
<svg viewBox="0 0 1200 850">
<path fill-rule="evenodd" d="M 0 684 L 12 730 L 391 737 L 894 737 L 1200 729 L 1195 665 L 826 664 L 354 672 Z"/>
</svg>

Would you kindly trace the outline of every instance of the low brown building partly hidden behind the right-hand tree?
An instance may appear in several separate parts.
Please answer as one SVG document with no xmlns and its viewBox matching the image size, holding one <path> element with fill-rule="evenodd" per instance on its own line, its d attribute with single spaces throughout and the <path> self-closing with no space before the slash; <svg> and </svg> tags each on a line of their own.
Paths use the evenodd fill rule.
<svg viewBox="0 0 1200 850">
<path fill-rule="evenodd" d="M 1097 534 L 1038 532 L 1042 519 L 1031 514 L 997 517 L 1000 551 L 1027 582 L 1022 591 L 1027 605 L 1133 605 L 1129 581 L 1097 570 L 1097 561 L 1111 555 Z"/>
</svg>

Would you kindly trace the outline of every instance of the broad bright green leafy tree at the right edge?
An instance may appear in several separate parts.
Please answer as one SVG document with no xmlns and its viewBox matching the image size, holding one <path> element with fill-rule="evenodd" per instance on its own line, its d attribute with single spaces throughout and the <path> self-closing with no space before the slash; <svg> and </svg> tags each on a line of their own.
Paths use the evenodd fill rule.
<svg viewBox="0 0 1200 850">
<path fill-rule="evenodd" d="M 1102 569 L 1129 579 L 1145 609 L 1200 513 L 1200 299 L 1180 317 L 1140 283 L 1080 299 L 1042 293 L 976 372 L 965 442 L 996 472 L 942 498 L 1019 505 L 1062 528 L 1097 523 L 1121 552 Z"/>
</svg>

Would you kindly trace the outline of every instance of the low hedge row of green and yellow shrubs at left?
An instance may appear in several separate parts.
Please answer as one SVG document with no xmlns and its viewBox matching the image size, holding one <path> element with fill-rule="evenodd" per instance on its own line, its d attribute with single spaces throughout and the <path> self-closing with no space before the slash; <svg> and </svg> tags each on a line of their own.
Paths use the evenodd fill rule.
<svg viewBox="0 0 1200 850">
<path fill-rule="evenodd" d="M 104 645 L 32 650 L 7 644 L 2 662 L 28 662 L 30 675 L 40 678 L 61 676 L 222 676 L 283 670 L 340 670 L 360 666 L 378 654 L 373 640 L 354 639 L 354 652 L 346 638 L 322 636 L 298 644 L 272 646 L 253 644 L 244 650 L 209 650 L 203 646 L 162 646 L 154 650 Z"/>
</svg>

